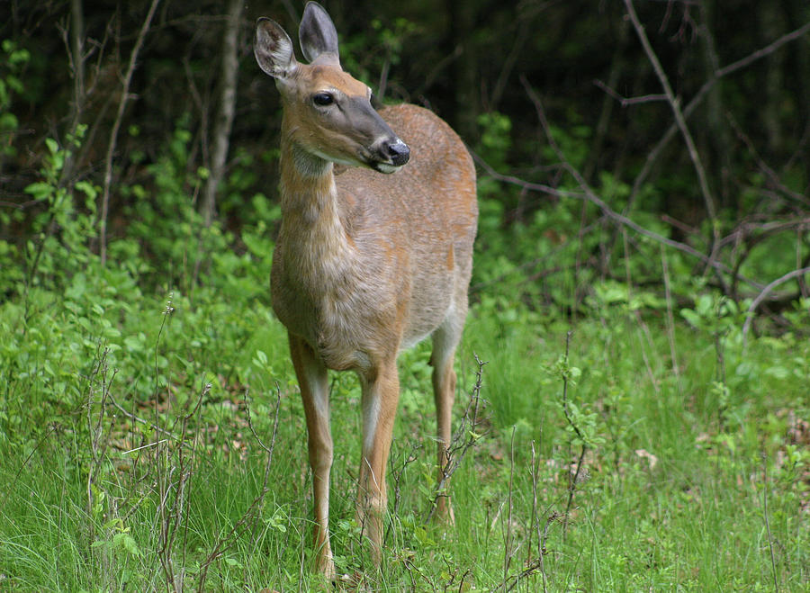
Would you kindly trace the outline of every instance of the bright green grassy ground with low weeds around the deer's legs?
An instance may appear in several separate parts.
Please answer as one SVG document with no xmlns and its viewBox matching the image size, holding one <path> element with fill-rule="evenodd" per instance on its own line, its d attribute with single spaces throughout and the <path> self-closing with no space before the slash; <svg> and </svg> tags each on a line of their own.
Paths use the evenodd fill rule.
<svg viewBox="0 0 810 593">
<path fill-rule="evenodd" d="M 284 331 L 231 289 L 78 277 L 0 305 L 0 590 L 328 589 Z M 354 517 L 359 389 L 334 375 L 339 589 L 810 590 L 810 344 L 743 345 L 722 301 L 596 294 L 584 319 L 477 299 L 452 527 L 428 521 L 428 346 L 401 356 L 380 572 Z"/>
</svg>

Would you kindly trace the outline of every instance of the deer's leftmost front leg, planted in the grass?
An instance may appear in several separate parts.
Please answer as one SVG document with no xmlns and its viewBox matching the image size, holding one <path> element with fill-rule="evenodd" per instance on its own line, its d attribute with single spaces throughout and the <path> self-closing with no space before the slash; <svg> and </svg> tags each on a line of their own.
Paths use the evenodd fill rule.
<svg viewBox="0 0 810 593">
<path fill-rule="evenodd" d="M 329 429 L 329 379 L 326 366 L 301 338 L 290 335 L 290 355 L 301 388 L 307 419 L 307 443 L 315 498 L 315 553 L 318 571 L 335 580 L 335 562 L 329 545 L 329 470 L 332 435 Z"/>
</svg>

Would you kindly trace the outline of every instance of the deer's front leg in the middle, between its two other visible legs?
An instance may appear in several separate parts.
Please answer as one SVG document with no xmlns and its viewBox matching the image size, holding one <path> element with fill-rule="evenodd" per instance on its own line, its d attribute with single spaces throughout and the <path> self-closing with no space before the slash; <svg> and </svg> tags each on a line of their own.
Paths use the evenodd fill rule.
<svg viewBox="0 0 810 593">
<path fill-rule="evenodd" d="M 387 508 L 385 470 L 391 451 L 393 423 L 400 400 L 396 358 L 370 373 L 363 383 L 363 456 L 357 492 L 357 517 L 362 533 L 372 544 L 377 565 L 382 558 L 383 517 Z"/>
</svg>

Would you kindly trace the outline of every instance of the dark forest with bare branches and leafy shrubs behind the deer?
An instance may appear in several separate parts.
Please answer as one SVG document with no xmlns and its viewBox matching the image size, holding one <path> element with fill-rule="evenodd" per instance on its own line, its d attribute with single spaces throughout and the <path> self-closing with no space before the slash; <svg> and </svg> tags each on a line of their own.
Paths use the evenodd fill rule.
<svg viewBox="0 0 810 593">
<path fill-rule="evenodd" d="M 297 40 L 302 4 L 4 2 L 4 293 L 94 258 L 188 291 L 213 253 L 251 249 L 246 229 L 272 247 L 280 104 L 253 23 Z M 348 71 L 473 150 L 473 298 L 660 292 L 664 252 L 683 299 L 708 285 L 779 313 L 808 295 L 805 0 L 324 4 Z"/>
</svg>

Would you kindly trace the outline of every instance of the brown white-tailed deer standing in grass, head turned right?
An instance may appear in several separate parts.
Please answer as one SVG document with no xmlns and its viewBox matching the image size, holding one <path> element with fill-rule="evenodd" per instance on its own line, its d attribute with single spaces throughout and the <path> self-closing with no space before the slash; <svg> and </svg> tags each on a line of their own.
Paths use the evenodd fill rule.
<svg viewBox="0 0 810 593">
<path fill-rule="evenodd" d="M 299 36 L 309 64 L 266 18 L 254 52 L 284 106 L 273 308 L 289 333 L 306 413 L 317 567 L 334 579 L 327 369 L 353 370 L 363 387 L 357 513 L 379 563 L 397 355 L 428 336 L 440 475 L 447 461 L 478 205 L 462 140 L 414 105 L 376 112 L 369 87 L 340 67 L 338 33 L 320 4 L 307 4 Z M 448 499 L 438 499 L 437 515 L 453 520 Z"/>
</svg>

